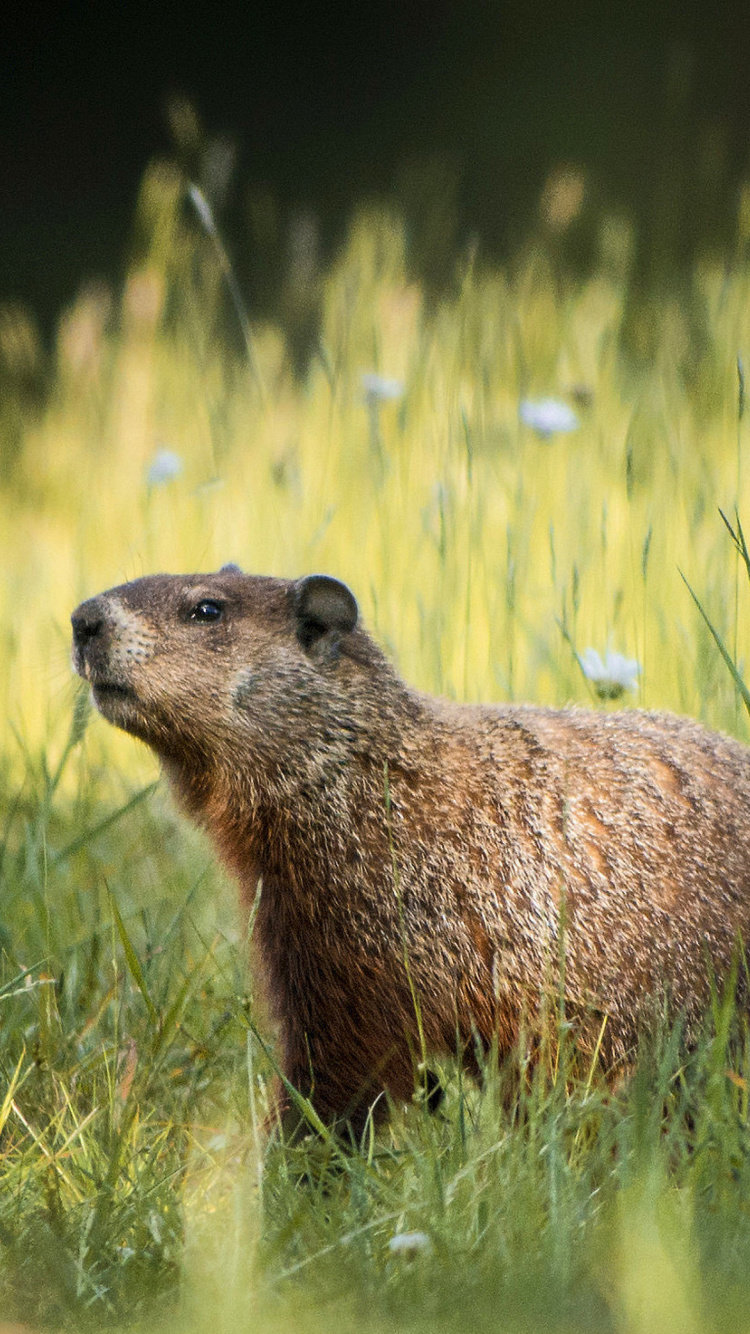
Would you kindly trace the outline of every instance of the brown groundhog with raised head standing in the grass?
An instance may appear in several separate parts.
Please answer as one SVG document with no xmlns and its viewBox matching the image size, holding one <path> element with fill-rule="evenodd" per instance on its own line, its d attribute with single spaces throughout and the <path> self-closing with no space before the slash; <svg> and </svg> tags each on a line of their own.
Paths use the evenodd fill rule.
<svg viewBox="0 0 750 1334">
<path fill-rule="evenodd" d="M 72 626 L 100 712 L 260 887 L 280 1067 L 327 1122 L 408 1099 L 424 1058 L 476 1071 L 559 998 L 626 1062 L 750 938 L 749 751 L 694 722 L 419 694 L 324 575 L 153 575 Z"/>
</svg>

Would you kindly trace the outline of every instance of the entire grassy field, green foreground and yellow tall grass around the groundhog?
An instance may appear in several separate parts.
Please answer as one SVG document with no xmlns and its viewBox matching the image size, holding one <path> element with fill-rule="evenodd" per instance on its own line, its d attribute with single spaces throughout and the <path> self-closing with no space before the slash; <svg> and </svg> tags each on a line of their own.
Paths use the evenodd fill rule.
<svg viewBox="0 0 750 1334">
<path fill-rule="evenodd" d="M 234 887 L 69 667 L 83 596 L 238 560 L 347 580 L 419 687 L 746 739 L 681 571 L 742 670 L 718 507 L 750 526 L 747 236 L 650 303 L 622 221 L 583 284 L 552 241 L 507 272 L 467 253 L 435 301 L 399 220 L 364 212 L 315 277 L 300 386 L 276 329 L 243 346 L 215 239 L 153 168 L 121 289 L 67 313 L 44 406 L 33 329 L 0 312 L 0 1331 L 750 1330 L 731 994 L 695 1051 L 666 1027 L 614 1090 L 573 1071 L 563 1026 L 522 1081 L 446 1069 L 440 1115 L 394 1109 L 359 1153 L 268 1143 Z M 519 419 L 547 395 L 574 431 Z M 637 659 L 637 692 L 602 703 L 587 648 Z"/>
</svg>

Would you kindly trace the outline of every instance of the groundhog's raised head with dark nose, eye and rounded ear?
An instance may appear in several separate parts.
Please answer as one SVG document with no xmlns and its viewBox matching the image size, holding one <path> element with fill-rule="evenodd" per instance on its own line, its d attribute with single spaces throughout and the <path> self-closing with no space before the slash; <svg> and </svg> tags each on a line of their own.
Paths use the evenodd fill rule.
<svg viewBox="0 0 750 1334">
<path fill-rule="evenodd" d="M 354 595 L 327 575 L 151 575 L 89 598 L 72 626 L 99 711 L 164 758 L 231 763 L 244 748 L 283 767 L 306 738 L 336 750 L 352 687 L 360 698 L 363 675 L 392 679 Z"/>
</svg>

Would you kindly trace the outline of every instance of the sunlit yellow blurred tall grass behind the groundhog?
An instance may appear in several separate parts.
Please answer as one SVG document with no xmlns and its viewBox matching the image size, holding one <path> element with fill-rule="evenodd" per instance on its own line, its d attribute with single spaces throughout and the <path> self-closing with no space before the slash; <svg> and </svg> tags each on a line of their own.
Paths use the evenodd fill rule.
<svg viewBox="0 0 750 1334">
<path fill-rule="evenodd" d="M 280 334 L 256 328 L 259 391 L 210 239 L 180 211 L 164 168 L 144 181 L 139 228 L 141 253 L 113 317 L 104 321 L 95 296 L 68 312 L 55 394 L 28 426 L 3 498 L 0 708 L 32 752 L 64 740 L 68 616 L 80 598 L 227 560 L 347 580 L 420 687 L 590 702 L 565 622 L 579 651 L 638 658 L 629 700 L 742 732 L 679 576 L 747 654 L 745 588 L 735 624 L 735 559 L 717 514 L 739 504 L 750 526 L 741 265 L 727 276 L 706 264 L 689 301 L 642 317 L 655 351 L 637 374 L 619 351 L 622 228 L 602 224 L 601 265 L 582 285 L 563 284 L 530 245 L 510 273 L 467 260 L 452 293 L 427 309 L 406 276 L 399 220 L 364 212 L 322 279 L 327 371 L 315 359 L 308 383 L 295 384 Z M 698 311 L 699 355 L 686 309 Z M 366 371 L 404 383 L 379 410 L 379 443 Z M 523 396 L 577 387 L 590 403 L 574 434 L 542 440 L 519 423 Z M 183 471 L 149 487 L 159 447 Z M 99 720 L 89 744 L 117 772 L 152 772 Z"/>
</svg>

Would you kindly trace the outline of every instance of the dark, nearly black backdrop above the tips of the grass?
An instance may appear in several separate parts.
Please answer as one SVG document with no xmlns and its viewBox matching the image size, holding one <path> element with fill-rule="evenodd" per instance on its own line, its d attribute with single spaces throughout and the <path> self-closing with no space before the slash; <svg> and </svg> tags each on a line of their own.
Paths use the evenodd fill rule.
<svg viewBox="0 0 750 1334">
<path fill-rule="evenodd" d="M 749 4 L 698 0 L 16 9 L 0 300 L 49 324 L 84 279 L 117 277 L 143 169 L 173 153 L 172 93 L 236 143 L 223 227 L 240 272 L 254 191 L 312 209 L 331 245 L 364 195 L 418 212 L 431 180 L 450 196 L 450 248 L 474 235 L 492 256 L 527 232 L 559 161 L 637 220 L 643 271 L 659 247 L 679 267 L 731 243 L 750 175 L 749 19 Z"/>
</svg>

